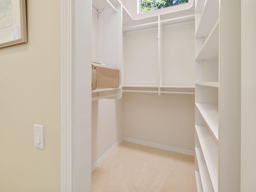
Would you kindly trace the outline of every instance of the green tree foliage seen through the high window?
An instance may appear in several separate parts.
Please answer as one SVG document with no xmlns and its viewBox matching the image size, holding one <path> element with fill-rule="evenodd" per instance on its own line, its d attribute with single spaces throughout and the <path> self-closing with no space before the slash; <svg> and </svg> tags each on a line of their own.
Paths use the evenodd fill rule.
<svg viewBox="0 0 256 192">
<path fill-rule="evenodd" d="M 188 0 L 141 0 L 141 12 L 148 12 L 156 9 L 162 9 L 174 5 L 187 3 Z"/>
</svg>

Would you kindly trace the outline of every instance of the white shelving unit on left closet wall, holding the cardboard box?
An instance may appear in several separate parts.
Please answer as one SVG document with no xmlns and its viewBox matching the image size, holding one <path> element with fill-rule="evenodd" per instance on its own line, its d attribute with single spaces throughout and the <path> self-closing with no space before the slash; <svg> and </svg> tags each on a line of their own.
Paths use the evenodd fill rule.
<svg viewBox="0 0 256 192">
<path fill-rule="evenodd" d="M 119 88 L 92 90 L 92 101 L 122 98 L 122 4 L 118 0 L 92 0 L 98 12 L 98 62 L 120 70 Z"/>
</svg>

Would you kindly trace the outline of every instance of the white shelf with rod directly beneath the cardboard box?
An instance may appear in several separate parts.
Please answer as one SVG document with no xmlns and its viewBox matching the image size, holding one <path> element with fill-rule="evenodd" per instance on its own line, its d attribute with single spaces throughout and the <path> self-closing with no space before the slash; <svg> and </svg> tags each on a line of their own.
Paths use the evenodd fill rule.
<svg viewBox="0 0 256 192">
<path fill-rule="evenodd" d="M 120 99 L 122 97 L 122 87 L 105 88 L 92 90 L 92 101 L 99 99 Z"/>
</svg>

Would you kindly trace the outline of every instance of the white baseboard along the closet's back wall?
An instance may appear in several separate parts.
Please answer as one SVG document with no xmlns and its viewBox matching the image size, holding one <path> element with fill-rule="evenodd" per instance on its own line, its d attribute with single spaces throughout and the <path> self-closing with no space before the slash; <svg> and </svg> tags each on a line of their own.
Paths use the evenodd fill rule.
<svg viewBox="0 0 256 192">
<path fill-rule="evenodd" d="M 186 149 L 170 147 L 167 145 L 161 145 L 161 144 L 157 144 L 157 143 L 151 143 L 151 142 L 131 139 L 131 138 L 127 138 L 127 137 L 124 137 L 123 140 L 127 141 L 127 142 L 131 142 L 131 143 L 136 143 L 136 144 L 140 144 L 140 145 L 145 145 L 145 146 L 150 146 L 150 147 L 154 147 L 154 148 L 159 148 L 159 149 L 164 149 L 164 150 L 168 150 L 168 151 L 173 151 L 173 152 L 178 152 L 178 153 L 182 153 L 182 154 L 186 154 L 186 155 L 195 156 L 194 151 L 190 151 L 190 150 L 186 150 Z"/>
</svg>

